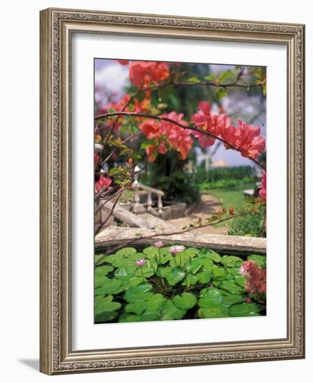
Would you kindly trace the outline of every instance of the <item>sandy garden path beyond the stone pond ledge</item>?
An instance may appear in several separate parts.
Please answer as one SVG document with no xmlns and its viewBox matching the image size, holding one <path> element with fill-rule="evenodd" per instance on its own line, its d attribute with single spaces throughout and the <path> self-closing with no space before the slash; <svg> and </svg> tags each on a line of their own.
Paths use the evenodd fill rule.
<svg viewBox="0 0 313 383">
<path fill-rule="evenodd" d="M 197 208 L 195 208 L 193 212 L 188 215 L 188 217 L 170 219 L 167 222 L 176 226 L 177 228 L 183 228 L 184 226 L 194 224 L 194 222 L 201 217 L 202 222 L 205 224 L 206 218 L 210 217 L 212 214 L 215 214 L 218 210 L 220 210 L 220 202 L 217 200 L 217 198 L 209 194 L 202 194 L 199 205 L 197 205 Z M 207 226 L 206 228 L 194 229 L 192 230 L 192 233 L 227 234 L 227 227 Z"/>
</svg>

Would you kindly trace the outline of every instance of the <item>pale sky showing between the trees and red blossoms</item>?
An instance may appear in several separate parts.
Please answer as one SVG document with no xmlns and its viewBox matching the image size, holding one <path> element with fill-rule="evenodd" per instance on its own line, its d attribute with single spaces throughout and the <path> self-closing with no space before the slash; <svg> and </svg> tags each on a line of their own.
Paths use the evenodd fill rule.
<svg viewBox="0 0 313 383">
<path fill-rule="evenodd" d="M 115 60 L 105 58 L 96 58 L 94 63 L 95 84 L 105 87 L 107 94 L 115 92 L 116 98 L 119 99 L 124 93 L 123 88 L 130 84 L 128 78 L 128 66 L 121 65 Z M 228 68 L 229 65 L 211 65 L 212 72 L 216 73 Z M 245 112 L 247 113 L 248 111 L 249 113 L 254 114 L 255 109 L 259 107 L 259 99 L 253 100 L 253 97 L 247 97 L 245 100 Z M 236 108 L 238 109 L 238 102 L 228 96 L 222 99 L 222 104 L 226 111 L 236 110 Z M 246 122 L 249 123 L 249 121 Z M 261 127 L 261 135 L 265 136 L 266 114 L 261 114 L 259 118 L 253 121 L 252 125 L 259 125 Z M 254 166 L 250 159 L 242 157 L 241 154 L 235 150 L 225 150 L 223 146 L 220 146 L 220 148 L 217 149 L 212 161 L 214 162 L 217 159 L 223 159 L 229 166 Z"/>
</svg>

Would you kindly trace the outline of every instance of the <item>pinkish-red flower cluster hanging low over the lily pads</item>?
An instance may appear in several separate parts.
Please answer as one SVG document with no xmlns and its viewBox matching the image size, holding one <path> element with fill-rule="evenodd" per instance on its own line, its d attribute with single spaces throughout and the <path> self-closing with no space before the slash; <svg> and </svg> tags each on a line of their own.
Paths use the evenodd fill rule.
<svg viewBox="0 0 313 383">
<path fill-rule="evenodd" d="M 261 269 L 252 260 L 245 260 L 240 268 L 241 275 L 245 276 L 245 290 L 252 294 L 266 292 L 266 269 Z"/>
</svg>

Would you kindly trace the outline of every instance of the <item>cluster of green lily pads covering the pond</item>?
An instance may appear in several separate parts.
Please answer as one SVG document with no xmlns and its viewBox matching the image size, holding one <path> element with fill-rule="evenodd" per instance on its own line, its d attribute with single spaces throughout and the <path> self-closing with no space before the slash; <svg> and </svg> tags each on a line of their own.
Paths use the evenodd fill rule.
<svg viewBox="0 0 313 383">
<path fill-rule="evenodd" d="M 138 260 L 146 260 L 138 266 Z M 243 260 L 266 267 L 266 256 L 220 256 L 187 248 L 125 247 L 96 255 L 95 322 L 141 322 L 265 315 L 265 297 L 245 291 Z M 100 262 L 99 262 L 100 260 Z"/>
</svg>

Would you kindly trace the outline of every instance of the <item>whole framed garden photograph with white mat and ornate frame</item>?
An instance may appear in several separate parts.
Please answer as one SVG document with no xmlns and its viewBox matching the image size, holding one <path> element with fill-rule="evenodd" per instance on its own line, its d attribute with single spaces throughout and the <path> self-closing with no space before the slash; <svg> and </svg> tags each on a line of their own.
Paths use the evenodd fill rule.
<svg viewBox="0 0 313 383">
<path fill-rule="evenodd" d="M 304 38 L 41 11 L 41 372 L 304 358 Z"/>
</svg>

